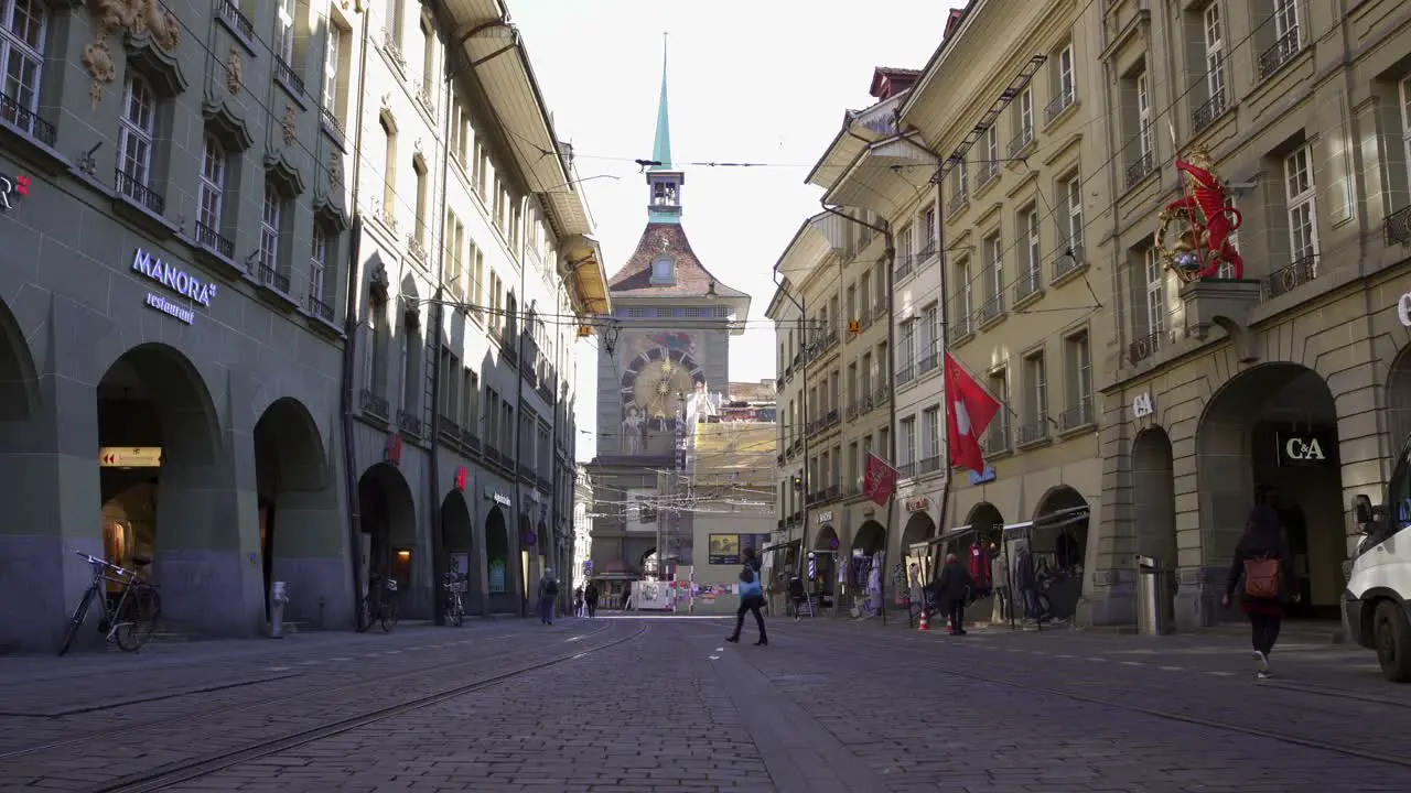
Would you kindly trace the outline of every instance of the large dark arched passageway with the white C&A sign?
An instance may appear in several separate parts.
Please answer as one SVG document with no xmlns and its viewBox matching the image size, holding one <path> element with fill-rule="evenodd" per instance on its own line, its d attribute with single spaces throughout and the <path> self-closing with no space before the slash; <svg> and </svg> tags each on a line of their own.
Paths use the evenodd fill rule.
<svg viewBox="0 0 1411 793">
<path fill-rule="evenodd" d="M 1338 412 L 1328 384 L 1298 364 L 1253 367 L 1215 394 L 1195 440 L 1201 564 L 1228 569 L 1250 508 L 1268 504 L 1278 512 L 1301 580 L 1301 601 L 1288 615 L 1336 619 L 1348 540 Z"/>
</svg>

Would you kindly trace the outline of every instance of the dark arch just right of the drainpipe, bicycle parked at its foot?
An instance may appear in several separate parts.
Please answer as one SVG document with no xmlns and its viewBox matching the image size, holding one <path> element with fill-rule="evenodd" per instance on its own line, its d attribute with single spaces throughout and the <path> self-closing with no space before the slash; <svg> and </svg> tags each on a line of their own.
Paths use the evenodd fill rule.
<svg viewBox="0 0 1411 793">
<path fill-rule="evenodd" d="M 396 581 L 404 617 L 426 618 L 423 604 L 412 601 L 412 552 L 416 545 L 416 507 L 412 490 L 391 463 L 367 468 L 357 483 L 363 512 L 363 591 L 391 579 Z"/>
</svg>

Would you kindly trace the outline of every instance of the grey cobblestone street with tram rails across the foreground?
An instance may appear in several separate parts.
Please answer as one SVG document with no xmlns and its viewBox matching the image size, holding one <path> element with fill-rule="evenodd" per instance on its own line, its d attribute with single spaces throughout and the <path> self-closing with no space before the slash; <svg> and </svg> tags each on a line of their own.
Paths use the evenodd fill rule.
<svg viewBox="0 0 1411 793">
<path fill-rule="evenodd" d="M 1411 789 L 1411 689 L 1291 639 L 718 618 L 0 659 L 3 789 Z"/>
</svg>

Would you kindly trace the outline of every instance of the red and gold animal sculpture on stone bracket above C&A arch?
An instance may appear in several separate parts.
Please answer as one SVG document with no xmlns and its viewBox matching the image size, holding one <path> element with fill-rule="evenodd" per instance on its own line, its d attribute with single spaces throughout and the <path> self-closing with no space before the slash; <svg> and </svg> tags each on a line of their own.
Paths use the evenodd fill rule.
<svg viewBox="0 0 1411 793">
<path fill-rule="evenodd" d="M 1230 243 L 1243 217 L 1228 205 L 1225 182 L 1215 171 L 1215 162 L 1204 147 L 1194 147 L 1189 159 L 1175 155 L 1175 169 L 1184 174 L 1184 196 L 1161 209 L 1161 223 L 1156 230 L 1157 255 L 1189 284 L 1197 278 L 1212 278 L 1222 264 L 1229 264 L 1233 278 L 1245 277 L 1245 260 Z M 1167 247 L 1167 229 L 1177 217 L 1185 220 L 1185 231 L 1175 247 Z"/>
</svg>

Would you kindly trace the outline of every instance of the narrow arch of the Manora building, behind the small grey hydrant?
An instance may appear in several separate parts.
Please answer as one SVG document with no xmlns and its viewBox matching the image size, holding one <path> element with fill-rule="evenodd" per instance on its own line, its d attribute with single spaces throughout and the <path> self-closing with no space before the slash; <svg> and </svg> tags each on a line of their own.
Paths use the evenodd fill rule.
<svg viewBox="0 0 1411 793">
<path fill-rule="evenodd" d="M 255 422 L 254 444 L 265 618 L 271 581 L 285 581 L 299 597 L 284 618 L 329 626 L 334 615 L 320 610 L 347 600 L 347 542 L 319 426 L 299 401 L 275 399 Z"/>
</svg>

